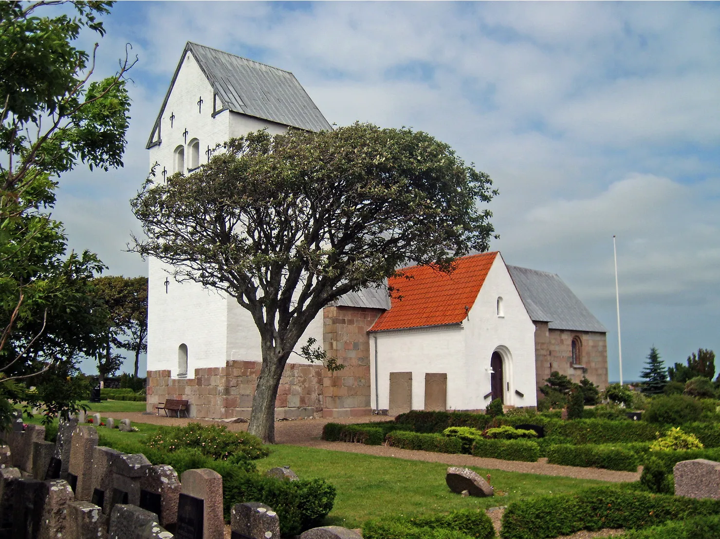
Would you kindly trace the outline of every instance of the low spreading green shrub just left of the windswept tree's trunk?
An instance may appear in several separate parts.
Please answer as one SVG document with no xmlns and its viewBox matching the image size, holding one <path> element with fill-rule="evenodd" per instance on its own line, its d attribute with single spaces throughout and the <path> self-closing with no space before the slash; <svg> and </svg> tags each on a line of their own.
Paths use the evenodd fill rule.
<svg viewBox="0 0 720 539">
<path fill-rule="evenodd" d="M 182 448 L 198 449 L 203 455 L 226 460 L 230 455 L 256 459 L 269 452 L 260 438 L 247 432 L 230 432 L 225 425 L 190 423 L 186 427 L 161 427 L 145 444 L 172 453 Z"/>
</svg>

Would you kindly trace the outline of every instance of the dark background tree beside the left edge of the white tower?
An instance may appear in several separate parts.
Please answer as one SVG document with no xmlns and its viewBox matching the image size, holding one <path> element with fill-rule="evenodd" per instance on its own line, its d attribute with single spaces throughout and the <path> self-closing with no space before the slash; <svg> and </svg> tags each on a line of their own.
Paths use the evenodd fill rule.
<svg viewBox="0 0 720 539">
<path fill-rule="evenodd" d="M 107 275 L 97 277 L 94 285 L 110 315 L 105 353 L 98 357 L 100 379 L 122 366 L 122 356 L 113 354 L 112 347 L 135 352 L 137 378 L 140 354 L 148 351 L 148 277 Z"/>
</svg>

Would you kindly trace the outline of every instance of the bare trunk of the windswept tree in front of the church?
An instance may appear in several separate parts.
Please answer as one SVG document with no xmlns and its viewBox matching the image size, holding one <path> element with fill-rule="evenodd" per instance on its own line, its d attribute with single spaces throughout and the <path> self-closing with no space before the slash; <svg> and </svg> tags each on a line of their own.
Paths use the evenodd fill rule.
<svg viewBox="0 0 720 539">
<path fill-rule="evenodd" d="M 289 353 L 277 355 L 274 347 L 263 345 L 263 365 L 253 396 L 248 432 L 263 442 L 275 443 L 275 398 Z"/>
</svg>

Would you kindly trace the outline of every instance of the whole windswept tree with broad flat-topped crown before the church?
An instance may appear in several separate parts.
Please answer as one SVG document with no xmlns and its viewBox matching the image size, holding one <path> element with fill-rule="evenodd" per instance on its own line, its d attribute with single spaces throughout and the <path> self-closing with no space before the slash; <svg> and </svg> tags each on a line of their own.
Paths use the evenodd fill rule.
<svg viewBox="0 0 720 539">
<path fill-rule="evenodd" d="M 480 204 L 496 192 L 447 144 L 409 129 L 260 131 L 220 149 L 197 172 L 148 179 L 132 200 L 148 239 L 134 249 L 251 313 L 262 367 L 248 427 L 273 442 L 282 371 L 318 312 L 408 262 L 449 271 L 486 251 Z"/>
</svg>

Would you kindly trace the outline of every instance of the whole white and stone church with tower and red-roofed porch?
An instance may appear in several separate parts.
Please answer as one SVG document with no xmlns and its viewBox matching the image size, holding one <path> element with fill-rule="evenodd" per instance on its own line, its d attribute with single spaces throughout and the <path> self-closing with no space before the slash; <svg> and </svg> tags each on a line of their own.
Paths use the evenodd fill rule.
<svg viewBox="0 0 720 539">
<path fill-rule="evenodd" d="M 148 140 L 156 181 L 192 172 L 230 138 L 330 124 L 292 73 L 187 43 Z M 148 411 L 167 398 L 194 417 L 248 417 L 260 337 L 233 298 L 176 282 L 149 261 Z M 557 275 L 505 264 L 499 252 L 459 259 L 451 275 L 413 267 L 385 290 L 325 307 L 313 337 L 346 367 L 330 373 L 300 356 L 284 371 L 276 418 L 395 415 L 410 409 L 481 410 L 500 398 L 535 406 L 557 370 L 604 387 L 606 329 Z"/>
</svg>

